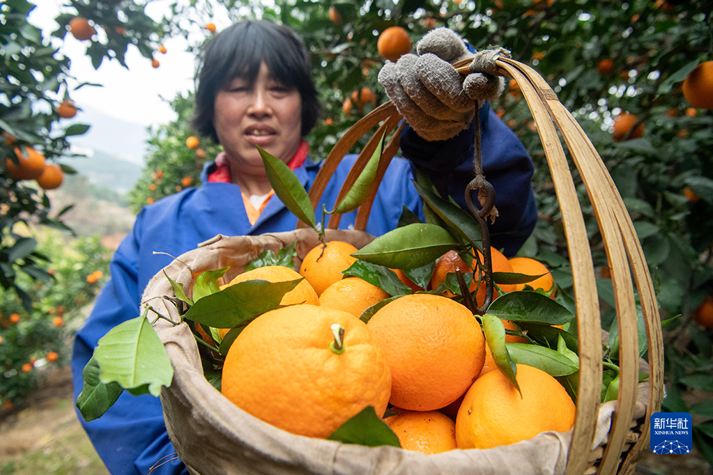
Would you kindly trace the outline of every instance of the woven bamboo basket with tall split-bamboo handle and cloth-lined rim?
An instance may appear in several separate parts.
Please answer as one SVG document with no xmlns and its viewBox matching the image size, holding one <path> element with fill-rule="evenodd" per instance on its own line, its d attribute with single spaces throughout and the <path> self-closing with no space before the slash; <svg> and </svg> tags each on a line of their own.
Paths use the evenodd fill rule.
<svg viewBox="0 0 713 475">
<path fill-rule="evenodd" d="M 455 66 L 465 66 L 466 64 L 456 63 Z M 573 116 L 559 102 L 553 90 L 550 89 L 538 73 L 523 63 L 509 58 L 499 58 L 496 61 L 496 66 L 498 66 L 498 72 L 501 75 L 514 78 L 520 85 L 520 90 L 537 124 L 555 185 L 555 192 L 560 203 L 573 272 L 580 359 L 577 412 L 568 445 L 569 450 L 566 454 L 560 455 L 560 461 L 553 461 L 552 466 L 555 468 L 549 472 L 565 473 L 567 475 L 631 474 L 635 470 L 635 464 L 641 450 L 647 447 L 650 417 L 653 413 L 659 411 L 664 395 L 661 325 L 645 256 L 627 209 L 605 165 L 588 137 L 586 137 Z M 345 180 L 337 201 L 347 194 L 356 177 L 359 176 L 359 172 L 366 165 L 377 146 L 379 140 L 377 137 L 382 137 L 395 131 L 384 148 L 384 155 L 379 164 L 379 170 L 369 199 L 361 205 L 357 212 L 354 231 L 339 231 L 337 226 L 339 226 L 340 216 L 335 214 L 331 216 L 327 226 L 328 239 L 349 241 L 357 247 L 363 246 L 373 239 L 373 236 L 369 236 L 364 232 L 364 229 L 366 229 L 371 203 L 381 177 L 383 177 L 389 161 L 399 149 L 399 123 L 401 119 L 396 107 L 392 103 L 385 103 L 350 127 L 329 153 L 309 192 L 313 206 L 317 205 L 337 165 L 357 140 L 378 126 Z M 595 284 L 595 269 L 582 209 L 575 191 L 568 160 L 558 136 L 558 130 L 568 146 L 571 160 L 573 160 L 583 179 L 590 202 L 593 205 L 594 214 L 604 238 L 603 241 L 608 265 L 612 273 L 612 283 L 616 298 L 617 327 L 620 335 L 620 386 L 615 410 L 611 416 L 611 424 L 607 426 L 608 434 L 605 434 L 603 438 L 599 437 L 600 434 L 597 434 L 597 419 L 601 415 L 602 329 Z M 302 223 L 298 223 L 297 227 L 296 231 L 263 236 L 236 236 L 231 238 L 216 236 L 215 239 L 202 244 L 198 249 L 180 256 L 178 261 L 181 263 L 173 263 L 165 268 L 165 271 L 176 281 L 188 284 L 197 271 L 231 266 L 231 270 L 225 276 L 225 278 L 230 279 L 235 274 L 242 272 L 245 269 L 245 265 L 255 259 L 261 251 L 279 249 L 287 246 L 295 239 L 297 239 L 297 263 L 299 264 L 299 261 L 304 258 L 307 251 L 317 244 L 317 236 L 312 229 L 307 228 Z M 192 269 L 187 270 L 185 263 L 188 263 Z M 638 354 L 635 289 L 645 320 L 648 344 L 647 362 L 641 361 Z M 162 272 L 157 274 L 149 283 L 143 301 L 150 301 L 155 299 L 156 296 L 170 295 L 171 292 L 170 285 L 168 285 Z M 155 307 L 155 300 L 153 302 Z M 167 313 L 175 313 L 175 308 L 170 308 L 170 305 L 163 310 Z M 373 469 L 369 473 L 421 473 L 409 470 L 409 464 L 416 464 L 414 466 L 429 464 L 429 462 L 424 462 L 426 459 L 419 458 L 423 454 L 406 455 L 415 460 L 411 462 L 411 459 L 404 458 L 406 456 L 394 452 L 394 450 L 405 451 L 394 447 L 367 448 L 359 446 L 358 449 L 352 449 L 344 446 L 334 449 L 334 444 L 338 444 L 337 442 L 317 439 L 309 439 L 310 450 L 312 446 L 322 447 L 324 453 L 327 454 L 326 456 L 310 455 L 322 454 L 322 451 L 306 451 L 304 446 L 299 446 L 296 451 L 290 451 L 289 446 L 291 444 L 298 444 L 299 439 L 304 438 L 284 433 L 250 416 L 247 416 L 246 419 L 245 414 L 241 414 L 240 409 L 232 406 L 227 400 L 220 402 L 220 404 L 215 402 L 217 401 L 215 397 L 222 397 L 219 394 L 214 395 L 213 400 L 206 399 L 206 393 L 217 392 L 212 389 L 202 375 L 198 350 L 180 343 L 181 341 L 190 341 L 195 347 L 195 342 L 192 340 L 193 336 L 190 334 L 187 325 L 182 324 L 172 327 L 165 320 L 158 320 L 154 326 L 168 351 L 174 367 L 187 368 L 185 370 L 176 370 L 171 387 L 162 390 L 161 400 L 170 439 L 178 456 L 186 463 L 191 473 L 200 475 L 225 473 L 323 473 L 322 469 L 325 466 L 330 463 L 336 463 L 339 458 L 337 454 L 341 454 L 344 457 L 344 454 L 347 453 L 364 454 L 364 451 L 378 451 L 379 454 L 384 455 L 380 459 L 381 461 L 384 459 L 389 460 L 389 464 L 399 468 L 393 469 L 393 471 L 391 469 L 389 471 Z M 640 365 L 644 368 L 644 372 L 649 372 L 647 381 L 642 383 L 639 382 Z M 211 409 L 210 417 L 196 417 L 196 408 L 200 407 L 201 404 L 210 404 L 217 407 Z M 230 421 L 232 420 L 238 420 L 240 427 L 230 427 Z M 601 424 L 598 425 L 599 430 L 601 430 Z M 250 447 L 246 448 L 245 444 L 242 444 L 235 449 L 235 440 L 231 439 L 232 434 L 230 434 L 230 437 L 226 436 L 228 432 L 233 430 L 243 431 L 239 434 L 239 438 L 250 439 Z M 256 430 L 260 432 L 251 432 Z M 211 439 L 212 449 L 210 454 L 204 453 L 202 457 L 197 458 L 193 452 L 195 452 L 194 441 L 199 436 Z M 600 440 L 603 439 L 604 442 L 594 446 L 593 441 L 597 437 Z M 260 444 L 272 445 L 274 440 L 284 443 L 279 446 L 279 449 L 270 449 L 270 451 L 267 451 L 269 453 L 266 453 Z M 255 447 L 253 447 L 253 444 Z M 508 457 L 512 454 L 518 456 L 519 452 L 517 450 L 520 444 L 480 452 L 493 451 L 493 453 L 497 454 L 497 457 L 493 456 L 493 459 L 499 457 L 498 459 L 502 460 L 501 463 L 506 464 Z M 332 449 L 334 451 L 330 451 Z M 221 466 L 217 463 L 215 460 L 226 452 L 238 454 L 236 457 L 249 459 L 252 464 L 250 465 L 250 471 L 230 471 L 225 468 L 225 465 Z M 434 461 L 443 461 L 447 455 L 436 454 L 429 457 L 434 457 L 431 459 Z M 321 460 L 322 458 L 325 460 Z M 398 463 L 394 460 L 398 460 Z M 472 465 L 471 471 L 467 466 L 465 468 L 456 466 L 452 459 L 445 460 L 446 462 L 444 462 L 445 465 L 443 466 L 448 467 L 447 471 L 454 474 L 519 473 L 507 470 L 498 471 L 498 469 L 488 471 Z M 356 470 L 356 465 L 352 462 L 349 462 L 348 465 L 349 468 Z M 424 471 L 424 473 L 436 472 L 446 473 L 446 471 Z M 327 469 L 324 469 L 324 473 L 354 473 L 356 475 L 366 472 L 349 471 L 344 467 L 341 469 L 327 467 Z M 533 473 L 548 473 L 548 470 L 543 469 L 542 471 L 533 471 Z"/>
</svg>

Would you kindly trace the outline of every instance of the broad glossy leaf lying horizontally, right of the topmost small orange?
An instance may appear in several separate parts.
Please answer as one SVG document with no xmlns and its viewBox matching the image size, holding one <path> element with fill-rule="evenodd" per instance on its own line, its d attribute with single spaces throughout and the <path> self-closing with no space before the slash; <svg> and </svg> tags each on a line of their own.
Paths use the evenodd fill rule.
<svg viewBox="0 0 713 475">
<path fill-rule="evenodd" d="M 426 266 L 459 247 L 441 226 L 409 224 L 377 237 L 352 256 L 389 268 L 411 269 Z"/>
</svg>

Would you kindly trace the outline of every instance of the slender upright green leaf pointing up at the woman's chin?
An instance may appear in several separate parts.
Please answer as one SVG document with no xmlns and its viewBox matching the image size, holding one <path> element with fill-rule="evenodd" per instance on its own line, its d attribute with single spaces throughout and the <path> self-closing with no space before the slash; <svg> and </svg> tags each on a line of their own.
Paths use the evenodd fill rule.
<svg viewBox="0 0 713 475">
<path fill-rule="evenodd" d="M 297 175 L 282 160 L 265 152 L 260 146 L 256 145 L 256 147 L 265 164 L 267 179 L 270 180 L 277 197 L 294 216 L 297 216 L 297 219 L 316 229 L 317 221 L 314 219 L 312 202 L 309 201 L 309 194 L 299 182 Z"/>
</svg>

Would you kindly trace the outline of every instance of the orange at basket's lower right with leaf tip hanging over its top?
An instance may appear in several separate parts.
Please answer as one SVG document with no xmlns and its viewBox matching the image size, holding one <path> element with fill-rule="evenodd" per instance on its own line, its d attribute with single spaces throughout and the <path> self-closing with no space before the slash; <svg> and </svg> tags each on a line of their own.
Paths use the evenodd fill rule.
<svg viewBox="0 0 713 475">
<path fill-rule="evenodd" d="M 522 397 L 500 371 L 478 377 L 456 416 L 458 449 L 491 449 L 572 428 L 575 404 L 554 377 L 517 365 L 517 380 Z"/>
</svg>

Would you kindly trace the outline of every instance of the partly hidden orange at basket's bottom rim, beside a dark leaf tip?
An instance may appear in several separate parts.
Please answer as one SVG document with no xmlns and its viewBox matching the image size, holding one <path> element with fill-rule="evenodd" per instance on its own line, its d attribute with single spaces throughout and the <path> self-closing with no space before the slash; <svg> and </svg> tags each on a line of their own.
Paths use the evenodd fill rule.
<svg viewBox="0 0 713 475">
<path fill-rule="evenodd" d="M 384 419 L 386 425 L 399 437 L 401 448 L 439 454 L 456 447 L 456 423 L 438 411 L 406 411 Z"/>
</svg>

